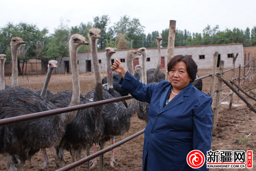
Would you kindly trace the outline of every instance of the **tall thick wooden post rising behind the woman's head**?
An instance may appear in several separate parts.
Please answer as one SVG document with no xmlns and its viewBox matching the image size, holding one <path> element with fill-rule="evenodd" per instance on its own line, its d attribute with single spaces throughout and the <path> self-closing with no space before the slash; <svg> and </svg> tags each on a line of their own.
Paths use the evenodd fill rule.
<svg viewBox="0 0 256 171">
<path fill-rule="evenodd" d="M 167 46 L 167 62 L 166 62 L 166 80 L 168 81 L 169 81 L 169 73 L 167 70 L 167 64 L 173 58 L 173 55 L 174 55 L 175 29 L 176 29 L 176 21 L 170 20 L 168 46 Z"/>
</svg>

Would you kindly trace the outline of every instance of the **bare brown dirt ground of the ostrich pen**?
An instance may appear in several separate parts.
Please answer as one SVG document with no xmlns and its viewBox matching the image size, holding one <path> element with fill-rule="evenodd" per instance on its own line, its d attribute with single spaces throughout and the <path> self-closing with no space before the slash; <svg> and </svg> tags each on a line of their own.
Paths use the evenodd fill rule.
<svg viewBox="0 0 256 171">
<path fill-rule="evenodd" d="M 198 75 L 204 76 L 212 72 L 211 69 L 201 69 L 198 70 Z M 243 72 L 241 72 L 241 75 Z M 105 73 L 102 73 L 102 78 L 106 76 Z M 28 75 L 19 76 L 19 85 L 30 88 L 33 91 L 41 89 L 44 85 L 45 75 Z M 229 80 L 231 78 L 231 71 L 228 71 L 224 74 L 224 77 Z M 238 71 L 236 71 L 235 77 L 238 77 Z M 9 79 L 9 76 L 6 76 L 6 84 L 11 86 L 12 80 Z M 217 79 L 215 82 L 215 88 L 217 87 Z M 209 93 L 210 90 L 211 78 L 207 77 L 203 79 L 203 91 Z M 238 82 L 237 82 L 238 83 Z M 94 87 L 94 75 L 92 73 L 80 74 L 80 85 L 81 85 L 81 94 L 86 94 L 91 91 Z M 256 80 L 247 80 L 242 86 L 245 91 L 249 92 L 251 90 L 256 91 Z M 58 91 L 72 89 L 72 77 L 71 74 L 53 74 L 49 83 L 49 91 L 56 93 Z M 227 86 L 224 86 L 221 91 L 221 99 L 224 98 L 230 89 Z M 215 93 L 216 94 L 216 93 Z M 256 150 L 256 114 L 251 111 L 246 104 L 239 99 L 236 94 L 233 95 L 233 107 L 232 110 L 228 110 L 228 102 L 230 97 L 225 99 L 220 105 L 219 114 L 218 114 L 218 123 L 217 128 L 213 130 L 212 136 L 212 150 Z M 252 105 L 256 102 L 246 97 Z M 227 104 L 225 104 L 227 103 Z M 213 98 L 213 105 L 215 105 L 215 97 Z M 125 133 L 123 136 L 116 137 L 116 142 L 128 137 L 143 128 L 145 128 L 146 123 L 142 120 L 139 120 L 137 115 L 134 115 L 131 119 L 130 130 Z M 144 135 L 140 135 L 133 140 L 125 143 L 124 145 L 115 148 L 115 166 L 112 168 L 110 166 L 110 157 L 111 151 L 105 154 L 105 171 L 141 171 L 142 170 L 142 150 L 143 150 L 143 138 Z M 107 142 L 106 146 L 111 145 L 111 142 Z M 98 147 L 99 150 L 99 147 Z M 47 149 L 50 164 L 47 171 L 54 171 L 58 169 L 54 162 L 54 151 L 52 149 Z M 91 149 L 91 153 L 93 149 Z M 256 155 L 253 155 L 253 160 L 256 160 Z M 81 158 L 86 157 L 86 153 L 83 152 Z M 99 157 L 97 157 L 99 163 Z M 65 161 L 66 165 L 71 163 L 71 157 L 68 151 L 65 151 Z M 44 163 L 44 157 L 42 151 L 39 151 L 38 154 L 32 158 L 31 161 L 26 161 L 25 170 L 34 171 L 38 170 Z M 92 170 L 98 170 L 99 165 L 97 164 L 96 168 Z M 6 170 L 6 157 L 0 154 L 0 170 Z M 76 168 L 78 171 L 86 171 L 87 164 L 80 165 Z M 220 170 L 221 169 L 211 169 L 211 170 Z M 226 169 L 227 170 L 227 169 Z M 237 170 L 237 169 L 236 169 Z M 242 170 L 247 170 L 242 169 Z M 250 169 L 256 170 L 256 169 Z"/>
</svg>

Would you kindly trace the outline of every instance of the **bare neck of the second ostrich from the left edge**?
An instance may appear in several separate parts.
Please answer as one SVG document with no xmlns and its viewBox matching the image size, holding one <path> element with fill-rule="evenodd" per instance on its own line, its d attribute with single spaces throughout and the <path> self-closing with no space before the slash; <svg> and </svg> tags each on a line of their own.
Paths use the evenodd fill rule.
<svg viewBox="0 0 256 171">
<path fill-rule="evenodd" d="M 17 51 L 18 48 L 14 48 L 11 46 L 12 49 L 12 87 L 19 86 L 18 84 L 18 64 L 17 64 Z"/>
</svg>

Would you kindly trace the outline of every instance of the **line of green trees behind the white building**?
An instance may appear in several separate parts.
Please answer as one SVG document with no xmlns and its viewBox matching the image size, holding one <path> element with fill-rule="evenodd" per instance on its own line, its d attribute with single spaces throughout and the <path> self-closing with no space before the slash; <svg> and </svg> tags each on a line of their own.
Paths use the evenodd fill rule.
<svg viewBox="0 0 256 171">
<path fill-rule="evenodd" d="M 131 18 L 127 15 L 120 17 L 120 20 L 109 26 L 108 15 L 97 16 L 93 22 L 80 23 L 79 26 L 68 27 L 68 20 L 60 20 L 58 28 L 53 34 L 49 34 L 47 28 L 40 30 L 35 24 L 28 23 L 7 23 L 0 28 L 0 54 L 6 54 L 7 61 L 11 60 L 10 42 L 12 37 L 21 37 L 27 42 L 26 46 L 20 48 L 18 60 L 25 62 L 29 59 L 43 59 L 69 56 L 68 40 L 70 35 L 78 33 L 87 38 L 88 30 L 92 27 L 101 29 L 101 38 L 98 41 L 98 50 L 105 50 L 106 47 L 116 49 L 130 48 L 156 48 L 156 37 L 162 36 L 162 47 L 167 47 L 169 28 L 162 32 L 152 31 L 147 35 L 144 26 L 138 18 Z M 88 39 L 88 38 L 87 38 Z M 89 40 L 87 40 L 89 41 Z M 256 26 L 251 30 L 239 28 L 221 31 L 219 26 L 211 28 L 209 25 L 202 33 L 191 33 L 176 29 L 175 46 L 211 45 L 243 43 L 244 47 L 256 46 Z M 90 51 L 90 46 L 81 46 L 79 51 Z"/>
</svg>

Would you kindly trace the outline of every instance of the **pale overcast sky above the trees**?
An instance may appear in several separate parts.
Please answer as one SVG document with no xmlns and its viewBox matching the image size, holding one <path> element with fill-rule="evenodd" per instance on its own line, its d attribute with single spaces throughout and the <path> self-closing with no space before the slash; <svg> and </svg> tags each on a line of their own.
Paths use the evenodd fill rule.
<svg viewBox="0 0 256 171">
<path fill-rule="evenodd" d="M 93 22 L 93 17 L 108 15 L 113 26 L 124 15 L 139 18 L 145 34 L 169 28 L 176 20 L 176 29 L 202 33 L 210 25 L 226 28 L 256 26 L 256 0 L 1 0 L 0 27 L 8 22 L 36 24 L 50 33 L 60 19 L 69 20 L 69 27 Z"/>
</svg>

